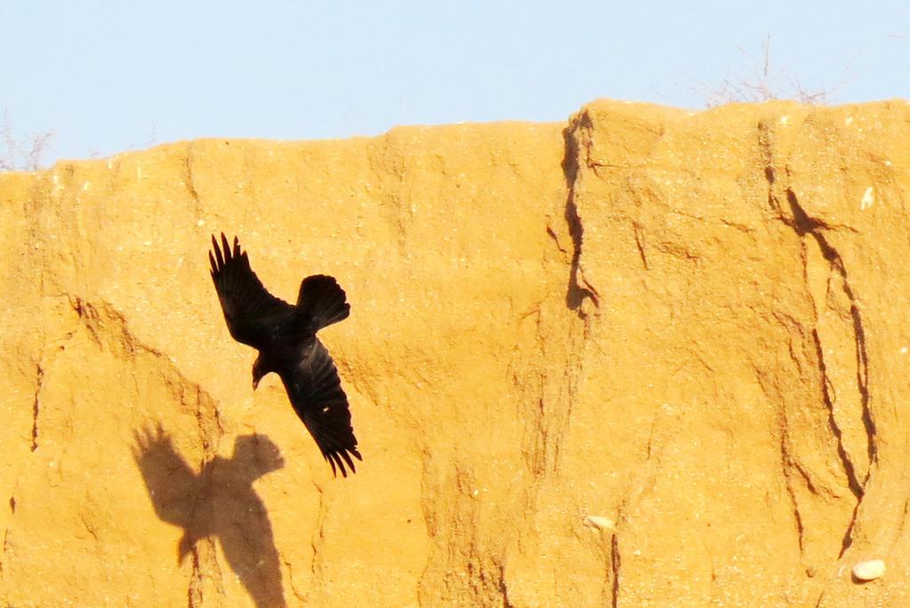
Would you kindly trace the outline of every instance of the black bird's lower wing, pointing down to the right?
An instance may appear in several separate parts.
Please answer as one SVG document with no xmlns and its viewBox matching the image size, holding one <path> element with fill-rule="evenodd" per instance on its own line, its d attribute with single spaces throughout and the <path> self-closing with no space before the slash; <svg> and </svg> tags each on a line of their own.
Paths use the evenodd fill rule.
<svg viewBox="0 0 910 608">
<path fill-rule="evenodd" d="M 317 339 L 312 351 L 298 367 L 282 376 L 288 388 L 288 396 L 294 411 L 306 424 L 313 435 L 319 451 L 336 472 L 336 466 L 345 477 L 348 464 L 351 473 L 356 473 L 351 456 L 363 460 L 357 450 L 357 437 L 350 425 L 348 396 L 344 394 L 338 370 L 329 356 L 329 351 Z"/>
</svg>

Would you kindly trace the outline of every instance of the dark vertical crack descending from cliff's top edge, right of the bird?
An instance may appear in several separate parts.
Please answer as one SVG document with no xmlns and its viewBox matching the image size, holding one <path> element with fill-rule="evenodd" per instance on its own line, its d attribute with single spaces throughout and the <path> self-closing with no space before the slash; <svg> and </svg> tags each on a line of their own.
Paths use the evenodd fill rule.
<svg viewBox="0 0 910 608">
<path fill-rule="evenodd" d="M 587 120 L 587 123 L 586 123 Z M 575 204 L 575 181 L 578 178 L 579 147 L 575 130 L 584 125 L 590 126 L 590 119 L 582 117 L 578 125 L 569 125 L 562 131 L 565 143 L 565 152 L 562 158 L 562 173 L 565 175 L 568 194 L 563 217 L 569 228 L 572 243 L 571 266 L 569 269 L 569 288 L 566 293 L 566 305 L 584 318 L 586 314 L 581 309 L 581 304 L 588 299 L 595 307 L 600 307 L 600 294 L 597 289 L 584 278 L 581 270 L 581 246 L 584 241 L 584 225 Z"/>
</svg>

